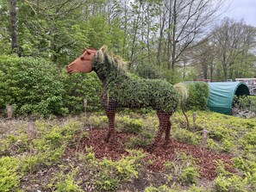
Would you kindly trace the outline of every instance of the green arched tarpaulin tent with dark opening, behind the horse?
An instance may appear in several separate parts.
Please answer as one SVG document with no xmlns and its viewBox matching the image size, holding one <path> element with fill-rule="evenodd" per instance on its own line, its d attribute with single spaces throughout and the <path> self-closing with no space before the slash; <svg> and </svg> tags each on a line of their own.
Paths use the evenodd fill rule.
<svg viewBox="0 0 256 192">
<path fill-rule="evenodd" d="M 231 115 L 234 96 L 250 96 L 242 82 L 209 83 L 208 107 L 211 111 Z"/>
</svg>

